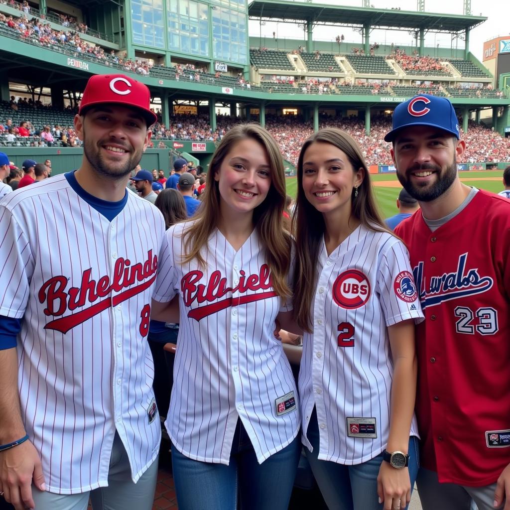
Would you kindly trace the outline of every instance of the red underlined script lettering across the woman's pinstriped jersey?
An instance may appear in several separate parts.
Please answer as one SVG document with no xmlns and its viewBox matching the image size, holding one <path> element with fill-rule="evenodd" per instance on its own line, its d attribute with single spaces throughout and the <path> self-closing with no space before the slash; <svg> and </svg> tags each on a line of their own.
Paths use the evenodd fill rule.
<svg viewBox="0 0 510 510">
<path fill-rule="evenodd" d="M 250 274 L 246 276 L 246 273 L 243 270 L 239 271 L 239 274 L 239 283 L 236 287 L 232 288 L 227 287 L 226 278 L 221 276 L 220 271 L 217 270 L 211 273 L 207 285 L 198 283 L 203 277 L 202 271 L 195 270 L 186 273 L 181 280 L 184 304 L 187 307 L 190 307 L 195 301 L 198 304 L 211 302 L 211 304 L 206 304 L 190 310 L 188 312 L 188 317 L 200 320 L 208 315 L 214 314 L 231 306 L 236 307 L 239 304 L 259 301 L 261 299 L 267 299 L 277 295 L 274 291 L 259 292 L 257 294 L 248 294 L 235 298 L 228 297 L 221 301 L 212 303 L 215 299 L 220 299 L 231 292 L 257 292 L 261 289 L 268 290 L 272 288 L 271 271 L 267 264 L 263 264 L 261 266 L 259 274 Z"/>
</svg>

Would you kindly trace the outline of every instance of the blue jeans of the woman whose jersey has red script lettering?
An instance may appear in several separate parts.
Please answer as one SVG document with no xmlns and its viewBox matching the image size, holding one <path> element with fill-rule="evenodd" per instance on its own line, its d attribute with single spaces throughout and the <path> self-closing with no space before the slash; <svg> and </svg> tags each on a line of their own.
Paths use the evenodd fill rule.
<svg viewBox="0 0 510 510">
<path fill-rule="evenodd" d="M 299 435 L 262 464 L 241 424 L 232 443 L 230 464 L 194 461 L 172 446 L 172 469 L 179 510 L 287 510 L 296 476 Z"/>
</svg>

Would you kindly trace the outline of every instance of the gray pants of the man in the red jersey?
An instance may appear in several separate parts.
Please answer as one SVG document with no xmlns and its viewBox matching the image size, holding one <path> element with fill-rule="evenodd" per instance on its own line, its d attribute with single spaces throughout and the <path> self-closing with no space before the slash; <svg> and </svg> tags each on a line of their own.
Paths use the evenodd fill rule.
<svg viewBox="0 0 510 510">
<path fill-rule="evenodd" d="M 455 508 L 455 510 L 494 510 L 496 483 L 484 487 L 466 487 L 456 483 L 439 483 L 438 474 L 420 468 L 416 478 L 423 510 Z M 476 506 L 473 506 L 473 502 Z M 503 508 L 504 502 L 498 508 Z"/>
</svg>

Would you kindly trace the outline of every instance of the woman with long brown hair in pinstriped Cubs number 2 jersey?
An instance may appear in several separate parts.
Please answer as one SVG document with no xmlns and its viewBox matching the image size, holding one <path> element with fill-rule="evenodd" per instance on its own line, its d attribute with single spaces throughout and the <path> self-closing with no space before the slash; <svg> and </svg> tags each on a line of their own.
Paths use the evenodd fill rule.
<svg viewBox="0 0 510 510">
<path fill-rule="evenodd" d="M 423 319 L 409 256 L 377 212 L 349 135 L 312 135 L 297 179 L 305 451 L 329 508 L 403 510 L 418 470 L 414 321 Z"/>
</svg>

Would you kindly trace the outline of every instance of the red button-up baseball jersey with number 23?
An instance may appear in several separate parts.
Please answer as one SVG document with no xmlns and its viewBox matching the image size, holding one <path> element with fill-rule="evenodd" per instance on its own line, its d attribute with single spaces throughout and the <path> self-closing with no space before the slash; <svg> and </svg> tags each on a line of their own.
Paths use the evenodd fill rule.
<svg viewBox="0 0 510 510">
<path fill-rule="evenodd" d="M 395 233 L 425 314 L 416 330 L 421 464 L 440 482 L 494 483 L 510 463 L 510 203 L 478 191 L 435 232 L 417 212 Z"/>
</svg>

